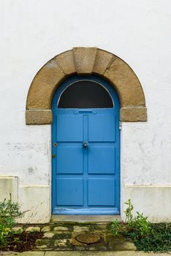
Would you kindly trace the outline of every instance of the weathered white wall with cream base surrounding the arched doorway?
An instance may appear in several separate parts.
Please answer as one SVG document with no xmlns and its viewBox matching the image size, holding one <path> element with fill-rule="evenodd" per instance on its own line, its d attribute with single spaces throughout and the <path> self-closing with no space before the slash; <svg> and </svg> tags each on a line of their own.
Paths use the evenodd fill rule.
<svg viewBox="0 0 171 256">
<path fill-rule="evenodd" d="M 145 92 L 148 122 L 123 123 L 121 132 L 121 216 L 132 198 L 151 221 L 171 221 L 171 1 L 1 0 L 0 7 L 0 184 L 17 177 L 10 182 L 18 184 L 22 221 L 50 220 L 50 125 L 26 126 L 28 89 L 40 67 L 75 46 L 121 57 Z"/>
</svg>

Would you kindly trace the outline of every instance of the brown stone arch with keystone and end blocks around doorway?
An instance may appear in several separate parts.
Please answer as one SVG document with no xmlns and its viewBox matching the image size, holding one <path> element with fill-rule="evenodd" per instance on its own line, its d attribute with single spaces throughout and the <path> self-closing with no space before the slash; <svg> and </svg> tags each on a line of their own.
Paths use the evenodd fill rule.
<svg viewBox="0 0 171 256">
<path fill-rule="evenodd" d="M 39 69 L 26 102 L 26 124 L 51 124 L 51 101 L 63 80 L 72 75 L 99 75 L 108 80 L 121 101 L 121 121 L 147 121 L 145 96 L 125 61 L 99 48 L 73 48 Z"/>
</svg>

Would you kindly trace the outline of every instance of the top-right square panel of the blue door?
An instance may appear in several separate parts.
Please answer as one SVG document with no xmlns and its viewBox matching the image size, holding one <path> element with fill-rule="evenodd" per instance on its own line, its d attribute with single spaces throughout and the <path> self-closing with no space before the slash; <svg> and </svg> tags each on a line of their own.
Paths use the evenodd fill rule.
<svg viewBox="0 0 171 256">
<path fill-rule="evenodd" d="M 107 110 L 106 110 L 107 112 Z M 88 121 L 89 141 L 115 141 L 115 114 L 91 115 Z"/>
</svg>

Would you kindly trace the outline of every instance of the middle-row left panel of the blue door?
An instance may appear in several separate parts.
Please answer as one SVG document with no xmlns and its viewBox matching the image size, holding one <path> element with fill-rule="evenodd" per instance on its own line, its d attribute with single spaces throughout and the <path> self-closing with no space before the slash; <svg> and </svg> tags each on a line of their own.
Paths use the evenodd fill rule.
<svg viewBox="0 0 171 256">
<path fill-rule="evenodd" d="M 57 156 L 56 172 L 58 174 L 83 173 L 83 148 L 81 145 L 58 146 Z"/>
</svg>

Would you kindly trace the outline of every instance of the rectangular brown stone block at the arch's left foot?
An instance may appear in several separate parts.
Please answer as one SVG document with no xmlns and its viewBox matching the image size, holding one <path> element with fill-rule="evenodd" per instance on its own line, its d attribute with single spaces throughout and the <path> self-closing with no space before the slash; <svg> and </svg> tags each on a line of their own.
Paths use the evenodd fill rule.
<svg viewBox="0 0 171 256">
<path fill-rule="evenodd" d="M 26 110 L 26 124 L 52 124 L 52 110 Z"/>
</svg>

